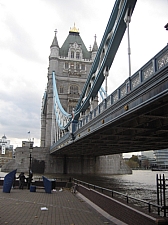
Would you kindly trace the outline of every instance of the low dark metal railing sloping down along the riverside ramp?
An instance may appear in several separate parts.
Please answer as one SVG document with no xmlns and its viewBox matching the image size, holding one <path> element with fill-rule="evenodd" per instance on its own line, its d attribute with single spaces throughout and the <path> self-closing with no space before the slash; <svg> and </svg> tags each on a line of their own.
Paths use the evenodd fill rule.
<svg viewBox="0 0 168 225">
<path fill-rule="evenodd" d="M 163 206 L 152 203 L 150 201 L 138 199 L 138 198 L 129 196 L 128 194 L 123 194 L 121 192 L 114 191 L 114 190 L 107 189 L 107 188 L 103 188 L 103 187 L 100 187 L 100 186 L 97 186 L 97 185 L 94 185 L 94 184 L 90 184 L 90 183 L 87 183 L 87 182 L 84 182 L 84 181 L 81 181 L 81 180 L 73 179 L 73 181 L 76 184 L 81 184 L 81 185 L 83 185 L 87 188 L 94 189 L 94 190 L 99 191 L 99 192 L 101 192 L 101 193 L 103 193 L 107 196 L 112 197 L 112 198 L 115 198 L 115 197 L 122 198 L 122 199 L 126 200 L 127 204 L 128 203 L 135 203 L 135 202 L 139 203 L 139 205 L 141 205 L 141 206 L 146 206 L 149 213 L 152 212 L 152 208 L 155 208 L 155 209 L 157 209 L 157 214 L 161 215 L 161 212 L 163 210 Z M 155 211 L 153 211 L 153 212 L 156 213 Z"/>
</svg>

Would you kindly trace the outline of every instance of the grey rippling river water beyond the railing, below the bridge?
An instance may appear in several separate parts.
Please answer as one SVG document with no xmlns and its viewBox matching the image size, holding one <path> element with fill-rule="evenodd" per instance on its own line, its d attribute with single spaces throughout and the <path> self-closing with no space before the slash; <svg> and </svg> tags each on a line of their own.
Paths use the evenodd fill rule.
<svg viewBox="0 0 168 225">
<path fill-rule="evenodd" d="M 168 178 L 168 171 L 151 171 L 151 170 L 133 170 L 132 174 L 124 175 L 104 175 L 104 176 L 85 176 L 85 175 L 46 175 L 50 178 L 70 176 L 93 185 L 118 191 L 129 196 L 157 203 L 156 192 L 156 174 L 164 174 Z M 0 177 L 5 173 L 0 172 Z M 40 175 L 38 175 L 40 177 Z M 168 197 L 168 196 L 167 196 Z"/>
</svg>

